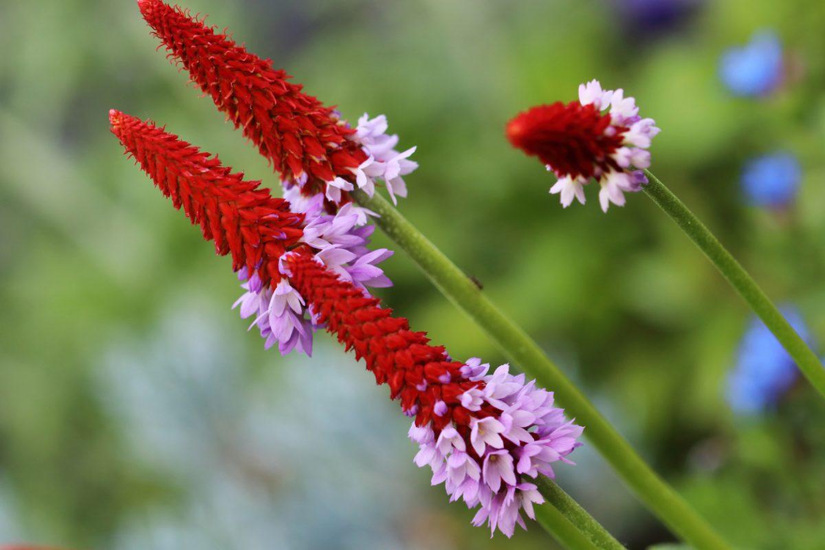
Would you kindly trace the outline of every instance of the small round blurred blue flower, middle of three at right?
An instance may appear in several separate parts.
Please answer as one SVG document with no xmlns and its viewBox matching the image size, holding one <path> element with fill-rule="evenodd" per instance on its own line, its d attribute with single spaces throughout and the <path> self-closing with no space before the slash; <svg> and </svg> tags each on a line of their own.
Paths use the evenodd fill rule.
<svg viewBox="0 0 825 550">
<path fill-rule="evenodd" d="M 750 204 L 779 207 L 796 196 L 802 168 L 790 153 L 772 153 L 747 162 L 742 172 L 742 190 Z"/>
</svg>

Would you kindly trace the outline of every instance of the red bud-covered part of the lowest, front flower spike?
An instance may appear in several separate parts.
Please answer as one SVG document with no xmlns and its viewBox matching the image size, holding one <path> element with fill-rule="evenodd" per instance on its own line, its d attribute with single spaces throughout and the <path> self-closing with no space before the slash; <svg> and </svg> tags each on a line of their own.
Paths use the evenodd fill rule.
<svg viewBox="0 0 825 550">
<path fill-rule="evenodd" d="M 410 331 L 407 319 L 393 317 L 391 309 L 380 308 L 379 299 L 365 297 L 312 256 L 290 254 L 285 265 L 290 284 L 312 305 L 319 322 L 326 323 L 327 331 L 336 334 L 347 350 L 356 350 L 356 358 L 365 360 L 377 383 L 389 383 L 390 397 L 400 398 L 405 411 L 416 411 L 416 425 L 432 421 L 437 435 L 455 422 L 467 439 L 471 417 L 498 416 L 486 403 L 472 413 L 461 406 L 460 395 L 483 388 L 484 383 L 464 378 L 463 364 L 448 360 L 443 346 L 431 346 L 426 332 Z M 448 382 L 443 381 L 446 375 Z M 441 416 L 433 412 L 438 401 L 447 405 Z"/>
</svg>

